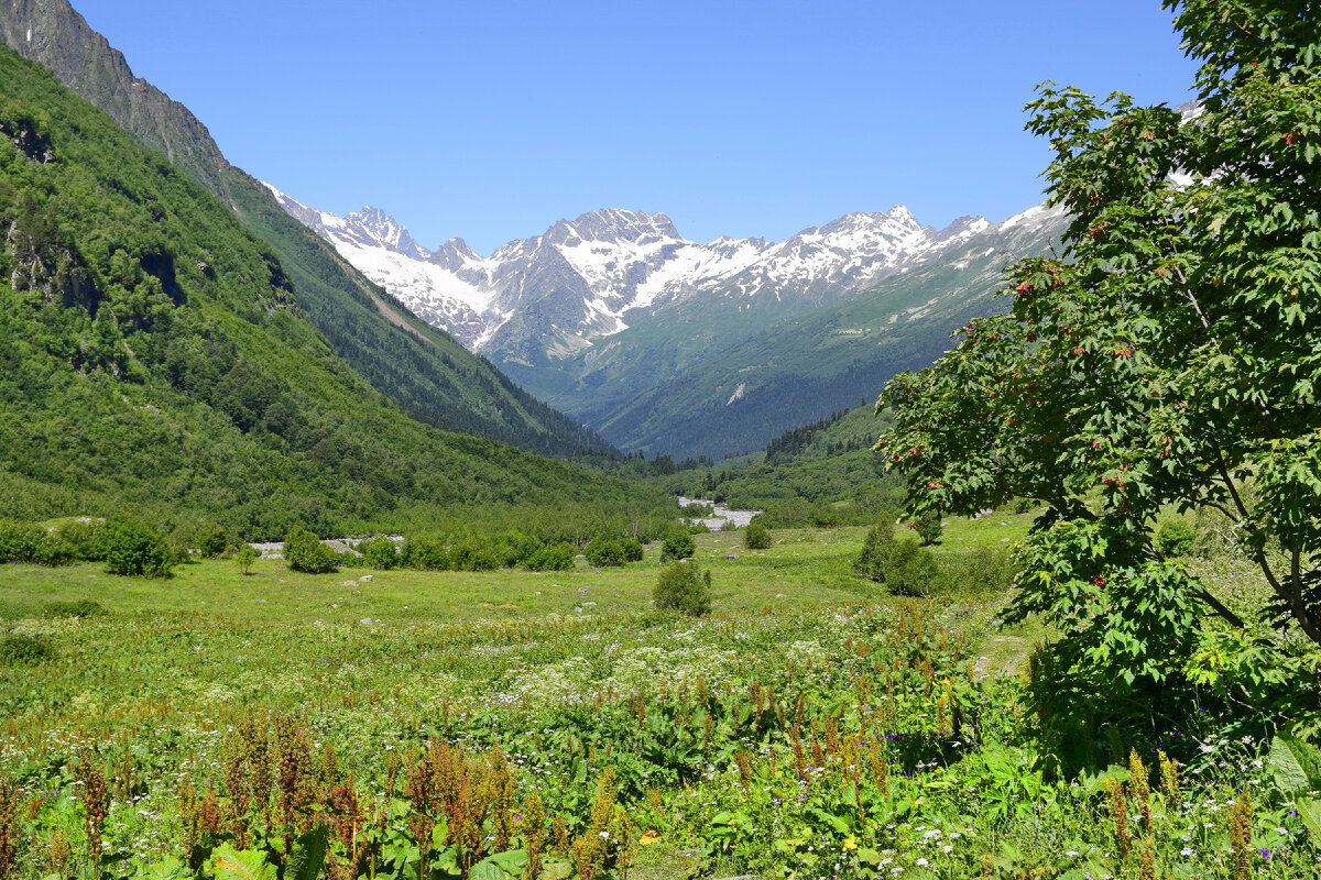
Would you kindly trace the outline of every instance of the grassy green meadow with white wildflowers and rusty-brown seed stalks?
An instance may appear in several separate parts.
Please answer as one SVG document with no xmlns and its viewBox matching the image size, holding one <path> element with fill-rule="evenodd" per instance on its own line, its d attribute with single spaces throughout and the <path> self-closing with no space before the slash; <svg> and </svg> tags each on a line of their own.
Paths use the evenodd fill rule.
<svg viewBox="0 0 1321 880">
<path fill-rule="evenodd" d="M 937 550 L 1004 546 L 1029 520 L 951 521 Z M 1020 869 L 1016 847 L 1044 834 L 1058 871 L 1040 876 L 1123 867 L 1103 782 L 1046 782 L 1028 747 L 1013 673 L 1041 632 L 999 628 L 1005 596 L 889 596 L 851 574 L 863 529 L 774 537 L 697 536 L 700 620 L 651 608 L 658 548 L 559 573 L 7 566 L 0 629 L 53 649 L 0 664 L 0 778 L 24 792 L 12 873 L 292 880 L 295 836 L 320 826 L 333 880 L 530 862 L 552 880 L 960 877 Z M 103 612 L 70 616 L 85 599 Z M 472 800 L 436 800 L 444 768 L 440 788 Z M 1221 846 L 1207 807 L 1166 807 L 1161 859 Z M 543 834 L 515 827 L 538 810 Z M 1222 876 L 1207 864 L 1186 876 Z"/>
</svg>

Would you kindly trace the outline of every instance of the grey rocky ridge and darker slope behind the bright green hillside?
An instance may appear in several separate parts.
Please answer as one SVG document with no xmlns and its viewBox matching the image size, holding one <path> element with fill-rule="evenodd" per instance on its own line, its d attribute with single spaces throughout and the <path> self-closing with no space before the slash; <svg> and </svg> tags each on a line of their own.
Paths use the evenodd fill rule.
<svg viewBox="0 0 1321 880">
<path fill-rule="evenodd" d="M 269 243 L 304 313 L 334 351 L 415 418 L 555 455 L 606 446 L 448 334 L 408 314 L 289 218 L 255 179 L 225 160 L 186 107 L 133 77 L 124 57 L 67 0 L 0 4 L 0 40 L 53 70 L 74 92 L 227 202 Z"/>
</svg>

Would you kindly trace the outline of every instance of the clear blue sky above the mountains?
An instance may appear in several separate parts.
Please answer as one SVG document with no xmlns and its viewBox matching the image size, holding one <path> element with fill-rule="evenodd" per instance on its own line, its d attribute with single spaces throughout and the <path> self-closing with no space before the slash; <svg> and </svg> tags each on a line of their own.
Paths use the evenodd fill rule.
<svg viewBox="0 0 1321 880">
<path fill-rule="evenodd" d="M 1044 79 L 1180 103 L 1157 0 L 73 0 L 231 162 L 482 253 L 600 207 L 782 240 L 1040 201 Z"/>
</svg>

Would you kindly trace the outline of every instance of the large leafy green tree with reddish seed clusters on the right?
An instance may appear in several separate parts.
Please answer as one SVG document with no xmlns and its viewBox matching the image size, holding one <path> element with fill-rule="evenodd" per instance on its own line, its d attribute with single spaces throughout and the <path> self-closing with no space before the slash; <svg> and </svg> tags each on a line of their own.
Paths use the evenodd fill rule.
<svg viewBox="0 0 1321 880">
<path fill-rule="evenodd" d="M 1009 314 L 893 379 L 877 449 L 914 517 L 1046 504 L 1020 613 L 1079 668 L 1234 686 L 1207 639 L 1321 645 L 1321 20 L 1305 3 L 1166 0 L 1198 106 L 1045 83 L 1062 248 L 1008 270 Z M 1164 508 L 1227 517 L 1269 590 L 1246 617 L 1162 555 Z M 1218 627 L 1203 632 L 1210 621 Z M 1246 649 L 1246 648 L 1244 648 Z M 1217 653 L 1219 652 L 1219 653 Z M 1251 676 L 1250 673 L 1243 673 Z M 1262 683 L 1260 681 L 1255 683 Z"/>
</svg>

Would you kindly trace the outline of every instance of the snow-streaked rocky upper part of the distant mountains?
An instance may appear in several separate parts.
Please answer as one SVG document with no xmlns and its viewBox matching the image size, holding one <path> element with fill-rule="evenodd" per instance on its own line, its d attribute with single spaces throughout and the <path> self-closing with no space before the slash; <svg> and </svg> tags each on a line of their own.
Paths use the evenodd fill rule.
<svg viewBox="0 0 1321 880">
<path fill-rule="evenodd" d="M 379 208 L 339 218 L 267 185 L 284 208 L 367 277 L 464 344 L 502 359 L 563 359 L 691 297 L 806 307 L 939 259 L 991 224 L 922 226 L 906 207 L 849 214 L 783 243 L 684 239 L 664 214 L 605 208 L 559 220 L 490 256 L 462 239 L 435 251 Z"/>
</svg>

